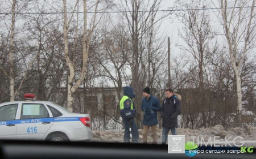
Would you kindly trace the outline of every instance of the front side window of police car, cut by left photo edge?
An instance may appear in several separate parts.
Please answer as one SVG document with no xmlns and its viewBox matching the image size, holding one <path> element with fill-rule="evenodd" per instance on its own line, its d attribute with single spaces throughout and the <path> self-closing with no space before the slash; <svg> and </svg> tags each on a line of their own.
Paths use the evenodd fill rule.
<svg viewBox="0 0 256 159">
<path fill-rule="evenodd" d="M 11 121 L 15 119 L 18 104 L 5 105 L 0 108 L 0 121 Z"/>
</svg>

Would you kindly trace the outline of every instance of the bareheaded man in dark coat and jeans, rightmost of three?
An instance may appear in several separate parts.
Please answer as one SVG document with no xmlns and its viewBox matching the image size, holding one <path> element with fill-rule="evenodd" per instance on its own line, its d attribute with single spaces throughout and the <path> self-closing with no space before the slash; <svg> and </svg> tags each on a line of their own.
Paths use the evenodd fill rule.
<svg viewBox="0 0 256 159">
<path fill-rule="evenodd" d="M 171 130 L 172 135 L 177 135 L 177 116 L 181 113 L 180 100 L 174 95 L 172 89 L 166 89 L 166 99 L 161 108 L 161 118 L 163 119 L 162 144 L 166 144 L 167 136 Z"/>
</svg>

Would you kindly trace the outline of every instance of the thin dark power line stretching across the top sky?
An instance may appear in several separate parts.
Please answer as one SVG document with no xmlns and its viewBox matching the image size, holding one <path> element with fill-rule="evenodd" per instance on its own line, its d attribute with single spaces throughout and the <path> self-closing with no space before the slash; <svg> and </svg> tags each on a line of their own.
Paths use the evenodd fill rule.
<svg viewBox="0 0 256 159">
<path fill-rule="evenodd" d="M 256 6 L 254 6 L 256 7 Z M 227 7 L 227 9 L 233 9 L 233 8 L 251 8 L 248 7 Z M 138 12 L 175 12 L 175 11 L 192 11 L 192 10 L 221 10 L 221 8 L 196 8 L 196 9 L 177 9 L 177 10 L 156 10 L 156 11 L 150 11 L 150 10 L 144 10 L 144 11 L 138 11 Z M 133 11 L 98 11 L 97 13 L 125 13 L 125 12 L 133 12 Z M 83 14 L 84 12 L 76 12 L 79 14 Z M 94 12 L 87 12 L 88 14 L 94 13 Z M 0 12 L 0 14 L 12 14 L 11 12 Z M 64 12 L 15 12 L 15 14 L 64 14 Z M 73 14 L 73 12 L 68 12 L 68 14 Z"/>
</svg>

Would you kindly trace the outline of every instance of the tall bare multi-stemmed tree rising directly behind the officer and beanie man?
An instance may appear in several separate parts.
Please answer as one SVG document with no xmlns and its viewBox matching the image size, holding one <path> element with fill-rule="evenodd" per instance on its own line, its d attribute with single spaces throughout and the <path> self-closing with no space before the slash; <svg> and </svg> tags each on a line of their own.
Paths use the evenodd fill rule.
<svg viewBox="0 0 256 159">
<path fill-rule="evenodd" d="M 141 105 L 141 90 L 146 85 L 152 85 L 152 54 L 155 26 L 161 19 L 170 15 L 156 18 L 156 14 L 161 7 L 162 1 L 152 1 L 148 3 L 144 0 L 125 0 L 122 6 L 126 10 L 124 16 L 127 20 L 131 36 L 131 45 L 133 46 L 132 59 L 129 61 L 131 67 L 131 87 L 134 87 L 136 108 Z M 146 58 L 143 58 L 145 57 Z M 142 70 L 141 70 L 142 68 Z M 143 73 L 142 73 L 143 72 Z M 148 78 L 146 78 L 148 76 Z M 137 113 L 138 121 L 141 121 L 141 112 Z"/>
</svg>

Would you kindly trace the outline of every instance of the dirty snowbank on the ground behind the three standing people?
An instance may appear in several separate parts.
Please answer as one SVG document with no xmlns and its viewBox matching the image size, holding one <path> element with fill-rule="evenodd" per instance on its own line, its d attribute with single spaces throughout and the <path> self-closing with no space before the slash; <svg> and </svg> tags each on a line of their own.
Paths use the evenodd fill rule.
<svg viewBox="0 0 256 159">
<path fill-rule="evenodd" d="M 93 131 L 93 141 L 122 143 L 123 142 L 123 132 L 124 132 L 124 130 Z M 142 129 L 139 129 L 139 143 L 142 143 L 142 132 L 143 132 Z M 169 134 L 169 135 L 171 135 L 171 134 Z M 226 139 L 228 139 L 230 145 L 232 145 L 232 146 L 234 146 L 234 144 L 232 144 L 234 138 L 237 136 L 241 136 L 241 137 L 243 137 L 243 139 L 238 137 L 234 140 L 237 145 L 241 145 L 239 140 L 242 140 L 244 142 L 243 146 L 256 147 L 256 127 L 253 127 L 253 126 L 245 126 L 243 128 L 236 127 L 236 128 L 225 129 L 221 125 L 216 125 L 211 128 L 199 128 L 196 130 L 191 130 L 188 128 L 177 128 L 177 135 L 185 135 L 185 142 L 193 141 L 191 136 L 199 136 L 199 143 L 201 143 L 202 137 L 203 137 L 204 141 L 207 142 L 209 137 L 211 137 L 211 140 L 213 141 L 214 136 L 220 136 L 220 137 L 216 138 L 216 140 L 220 140 L 220 144 L 218 144 L 218 145 L 224 144 L 225 142 L 223 142 L 223 140 L 225 141 L 225 138 L 226 138 Z M 162 129 L 158 129 L 157 137 L 158 137 L 158 144 L 161 144 Z M 149 130 L 147 138 L 148 138 L 147 139 L 148 144 L 152 143 L 151 130 Z M 197 138 L 196 138 L 195 142 L 197 142 Z M 224 146 L 225 146 L 225 144 L 224 144 Z M 229 146 L 229 145 L 226 145 L 226 146 Z"/>
</svg>

